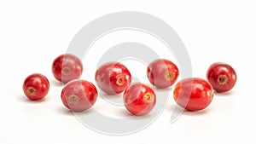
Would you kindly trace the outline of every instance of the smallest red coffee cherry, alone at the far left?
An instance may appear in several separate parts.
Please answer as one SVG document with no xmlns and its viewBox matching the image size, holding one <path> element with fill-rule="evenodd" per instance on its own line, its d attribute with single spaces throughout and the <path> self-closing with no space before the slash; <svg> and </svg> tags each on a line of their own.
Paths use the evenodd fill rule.
<svg viewBox="0 0 256 144">
<path fill-rule="evenodd" d="M 41 100 L 49 92 L 49 80 L 40 73 L 34 73 L 25 79 L 23 91 L 29 100 Z"/>
</svg>

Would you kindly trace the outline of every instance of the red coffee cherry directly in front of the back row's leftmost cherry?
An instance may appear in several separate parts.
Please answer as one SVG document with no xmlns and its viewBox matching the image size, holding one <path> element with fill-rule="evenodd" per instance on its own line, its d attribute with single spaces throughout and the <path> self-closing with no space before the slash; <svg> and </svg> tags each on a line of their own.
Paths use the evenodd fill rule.
<svg viewBox="0 0 256 144">
<path fill-rule="evenodd" d="M 65 85 L 61 91 L 61 101 L 73 112 L 82 112 L 92 107 L 98 92 L 94 84 L 75 79 Z"/>
</svg>

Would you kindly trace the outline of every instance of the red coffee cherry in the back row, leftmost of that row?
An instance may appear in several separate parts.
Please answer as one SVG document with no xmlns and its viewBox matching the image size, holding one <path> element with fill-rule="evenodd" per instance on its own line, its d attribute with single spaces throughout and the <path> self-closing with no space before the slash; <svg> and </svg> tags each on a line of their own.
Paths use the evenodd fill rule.
<svg viewBox="0 0 256 144">
<path fill-rule="evenodd" d="M 52 73 L 54 77 L 64 83 L 78 79 L 82 75 L 83 65 L 81 60 L 75 55 L 60 55 L 52 63 Z"/>
</svg>

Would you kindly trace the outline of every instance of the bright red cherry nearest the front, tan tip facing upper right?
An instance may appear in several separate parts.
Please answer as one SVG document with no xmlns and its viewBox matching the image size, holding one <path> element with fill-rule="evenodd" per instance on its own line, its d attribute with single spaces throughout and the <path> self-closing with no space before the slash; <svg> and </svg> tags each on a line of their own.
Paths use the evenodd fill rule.
<svg viewBox="0 0 256 144">
<path fill-rule="evenodd" d="M 154 90 L 145 84 L 131 84 L 123 95 L 125 108 L 134 115 L 142 116 L 154 108 L 156 97 Z"/>
</svg>

